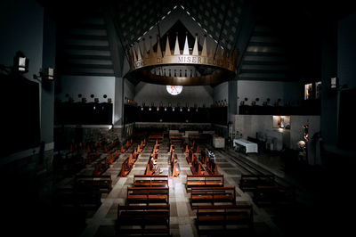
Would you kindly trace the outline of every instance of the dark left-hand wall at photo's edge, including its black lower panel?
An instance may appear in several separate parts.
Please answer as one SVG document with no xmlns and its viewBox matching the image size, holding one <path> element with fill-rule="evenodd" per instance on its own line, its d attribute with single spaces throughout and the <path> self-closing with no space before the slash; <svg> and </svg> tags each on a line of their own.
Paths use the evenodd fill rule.
<svg viewBox="0 0 356 237">
<path fill-rule="evenodd" d="M 0 64 L 11 68 L 17 51 L 29 61 L 28 73 L 23 77 L 0 71 L 5 141 L 1 156 L 39 144 L 40 86 L 33 80 L 33 74 L 43 67 L 43 27 L 44 10 L 35 0 L 1 1 Z"/>
</svg>

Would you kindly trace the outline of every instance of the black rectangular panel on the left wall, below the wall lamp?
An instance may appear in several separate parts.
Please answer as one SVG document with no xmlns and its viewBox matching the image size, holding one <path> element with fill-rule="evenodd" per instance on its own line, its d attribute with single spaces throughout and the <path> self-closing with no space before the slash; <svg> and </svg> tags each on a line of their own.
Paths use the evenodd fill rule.
<svg viewBox="0 0 356 237">
<path fill-rule="evenodd" d="M 39 145 L 39 88 L 36 82 L 18 75 L 0 74 L 3 122 L 0 156 Z M 10 98 L 10 100 L 9 100 Z"/>
</svg>

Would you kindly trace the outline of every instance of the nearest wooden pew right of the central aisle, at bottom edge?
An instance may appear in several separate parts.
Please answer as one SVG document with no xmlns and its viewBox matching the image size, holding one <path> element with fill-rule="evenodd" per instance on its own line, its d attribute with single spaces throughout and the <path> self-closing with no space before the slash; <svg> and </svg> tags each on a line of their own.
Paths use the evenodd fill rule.
<svg viewBox="0 0 356 237">
<path fill-rule="evenodd" d="M 199 206 L 196 225 L 199 235 L 228 233 L 238 236 L 239 231 L 247 231 L 243 236 L 253 236 L 253 207 L 250 204 Z"/>
</svg>

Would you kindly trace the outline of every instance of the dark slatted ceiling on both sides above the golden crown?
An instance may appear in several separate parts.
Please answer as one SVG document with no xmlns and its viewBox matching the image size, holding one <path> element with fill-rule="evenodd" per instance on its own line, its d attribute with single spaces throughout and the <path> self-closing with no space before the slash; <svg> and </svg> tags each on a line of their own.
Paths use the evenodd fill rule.
<svg viewBox="0 0 356 237">
<path fill-rule="evenodd" d="M 57 67 L 61 74 L 117 77 L 125 73 L 123 48 L 159 26 L 178 7 L 207 36 L 239 51 L 238 79 L 318 78 L 321 32 L 328 32 L 336 20 L 354 11 L 344 1 L 39 2 L 58 20 Z"/>
</svg>

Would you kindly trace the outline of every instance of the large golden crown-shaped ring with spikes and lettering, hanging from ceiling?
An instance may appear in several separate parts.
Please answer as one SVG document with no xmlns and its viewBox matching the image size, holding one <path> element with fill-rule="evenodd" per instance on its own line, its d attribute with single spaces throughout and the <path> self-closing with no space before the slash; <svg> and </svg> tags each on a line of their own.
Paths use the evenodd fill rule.
<svg viewBox="0 0 356 237">
<path fill-rule="evenodd" d="M 143 39 L 140 44 L 131 46 L 128 52 L 129 74 L 142 81 L 172 86 L 216 85 L 236 75 L 237 53 L 225 49 L 214 41 L 210 52 L 206 50 L 206 37 L 202 51 L 198 51 L 198 37 L 195 37 L 193 50 L 185 37 L 184 48 L 179 48 L 178 35 L 175 38 L 174 51 L 171 51 L 169 37 L 166 37 L 166 51 L 162 51 L 158 37 L 157 51 L 147 51 Z"/>
</svg>

